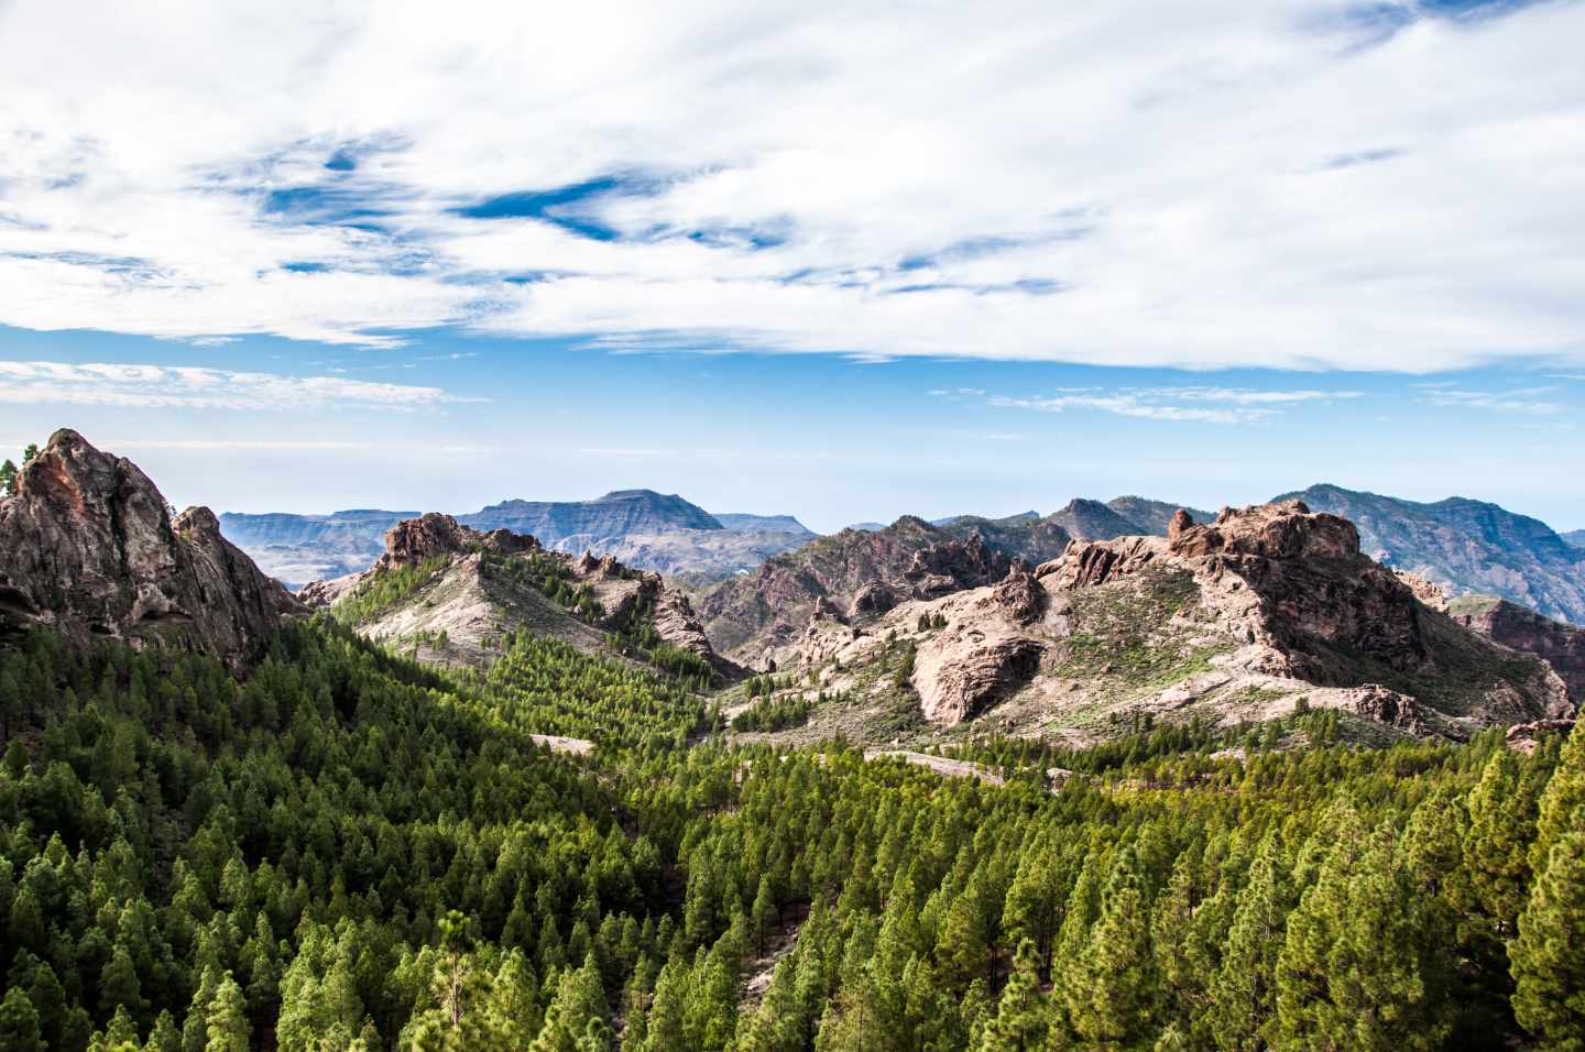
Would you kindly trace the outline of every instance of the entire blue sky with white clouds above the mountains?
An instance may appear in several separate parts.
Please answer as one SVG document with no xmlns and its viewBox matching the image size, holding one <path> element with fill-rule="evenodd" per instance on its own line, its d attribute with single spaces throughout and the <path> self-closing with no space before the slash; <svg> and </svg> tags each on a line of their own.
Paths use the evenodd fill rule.
<svg viewBox="0 0 1585 1052">
<path fill-rule="evenodd" d="M 1585 3 L 0 0 L 0 455 L 1585 526 Z"/>
</svg>

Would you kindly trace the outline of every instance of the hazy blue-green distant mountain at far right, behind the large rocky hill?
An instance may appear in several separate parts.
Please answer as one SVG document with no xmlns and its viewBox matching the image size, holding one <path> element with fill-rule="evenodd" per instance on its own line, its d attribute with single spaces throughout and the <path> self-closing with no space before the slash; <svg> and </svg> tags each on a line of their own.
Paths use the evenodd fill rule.
<svg viewBox="0 0 1585 1052">
<path fill-rule="evenodd" d="M 1293 497 L 1354 521 L 1366 551 L 1455 596 L 1487 593 L 1585 624 L 1585 551 L 1539 520 L 1466 497 L 1417 504 L 1333 485 L 1274 499 Z"/>
</svg>

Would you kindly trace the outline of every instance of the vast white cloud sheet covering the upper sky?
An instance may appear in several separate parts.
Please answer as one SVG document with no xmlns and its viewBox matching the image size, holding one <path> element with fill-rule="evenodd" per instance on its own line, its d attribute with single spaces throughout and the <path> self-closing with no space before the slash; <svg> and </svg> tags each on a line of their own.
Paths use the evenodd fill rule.
<svg viewBox="0 0 1585 1052">
<path fill-rule="evenodd" d="M 0 323 L 1585 361 L 1585 5 L 1357 11 L 13 0 Z M 609 239 L 455 211 L 618 173 Z"/>
</svg>

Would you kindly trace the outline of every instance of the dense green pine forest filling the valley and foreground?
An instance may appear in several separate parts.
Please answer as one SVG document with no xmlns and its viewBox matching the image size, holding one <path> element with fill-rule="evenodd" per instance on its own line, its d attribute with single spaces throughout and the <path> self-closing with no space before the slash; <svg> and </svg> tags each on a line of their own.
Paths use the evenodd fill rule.
<svg viewBox="0 0 1585 1052">
<path fill-rule="evenodd" d="M 989 786 L 729 746 L 672 678 L 501 645 L 0 651 L 0 1047 L 1585 1041 L 1585 737 L 1323 746 L 1312 711 L 1238 762 L 1140 715 L 959 745 Z"/>
</svg>

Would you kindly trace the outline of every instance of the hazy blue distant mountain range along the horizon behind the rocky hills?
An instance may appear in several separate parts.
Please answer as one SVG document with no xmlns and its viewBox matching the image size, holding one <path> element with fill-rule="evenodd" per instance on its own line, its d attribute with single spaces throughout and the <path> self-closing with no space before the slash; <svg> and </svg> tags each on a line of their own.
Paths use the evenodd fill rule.
<svg viewBox="0 0 1585 1052">
<path fill-rule="evenodd" d="M 1585 624 L 1585 531 L 1558 534 L 1539 520 L 1468 497 L 1422 504 L 1314 485 L 1273 499 L 1303 499 L 1316 510 L 1349 518 L 1360 531 L 1365 551 L 1426 578 L 1449 596 L 1490 594 L 1549 618 Z M 1027 559 L 1032 556 L 1030 523 L 1043 523 L 1038 553 L 1045 555 L 1054 529 L 1068 540 L 1163 536 L 1178 509 L 1165 501 L 1122 496 L 1105 502 L 1073 499 L 1045 516 L 1038 512 L 1003 518 L 956 515 L 922 524 L 957 537 L 978 529 L 989 548 Z M 1203 509 L 1186 510 L 1195 521 L 1214 518 Z M 265 572 L 288 588 L 300 588 L 312 580 L 365 570 L 384 553 L 385 531 L 417 515 L 366 509 L 330 515 L 225 513 L 220 529 Z M 620 490 L 593 501 L 504 501 L 458 515 L 456 521 L 480 531 L 526 532 L 555 551 L 612 555 L 624 566 L 677 578 L 696 594 L 724 578 L 753 575 L 767 559 L 804 548 L 818 537 L 791 515 L 710 513 L 682 496 L 650 490 Z M 834 537 L 878 534 L 892 526 L 859 523 Z M 911 547 L 903 548 L 911 558 Z M 826 558 L 821 548 L 808 553 L 810 561 Z M 892 567 L 892 572 L 902 569 L 905 566 Z M 813 602 L 821 588 L 808 589 L 800 602 Z M 837 593 L 846 602 L 843 588 Z M 726 632 L 732 648 L 764 627 L 734 619 L 740 624 Z"/>
</svg>

